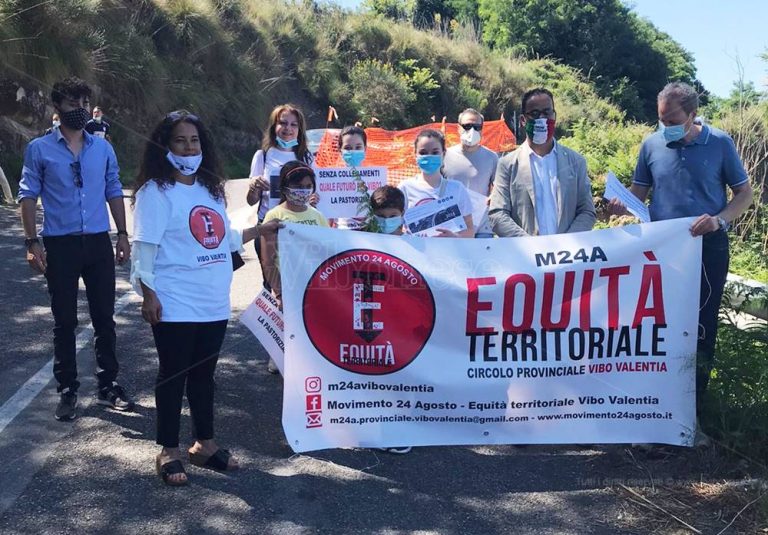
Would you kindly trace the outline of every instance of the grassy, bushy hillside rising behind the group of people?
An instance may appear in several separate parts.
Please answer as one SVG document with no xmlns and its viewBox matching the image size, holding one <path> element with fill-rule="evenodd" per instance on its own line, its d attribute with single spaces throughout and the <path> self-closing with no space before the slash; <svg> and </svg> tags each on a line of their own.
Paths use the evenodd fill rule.
<svg viewBox="0 0 768 535">
<path fill-rule="evenodd" d="M 467 106 L 495 118 L 542 84 L 556 93 L 561 134 L 577 119 L 623 117 L 576 71 L 553 61 L 492 53 L 472 31 L 449 38 L 332 5 L 0 0 L 0 21 L 0 110 L 14 123 L 0 123 L 0 164 L 11 177 L 25 138 L 48 126 L 50 85 L 70 74 L 97 88 L 93 103 L 115 126 L 126 182 L 143 135 L 182 107 L 213 125 L 231 176 L 246 172 L 269 110 L 284 101 L 298 103 L 311 127 L 325 126 L 330 104 L 342 124 L 377 117 L 396 128 L 432 115 L 455 120 Z M 19 87 L 28 97 L 17 102 Z"/>
</svg>

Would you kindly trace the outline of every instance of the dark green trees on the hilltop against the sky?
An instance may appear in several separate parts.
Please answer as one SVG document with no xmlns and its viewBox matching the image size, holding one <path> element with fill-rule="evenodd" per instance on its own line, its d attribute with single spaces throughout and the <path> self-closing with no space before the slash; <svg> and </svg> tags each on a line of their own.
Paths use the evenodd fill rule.
<svg viewBox="0 0 768 535">
<path fill-rule="evenodd" d="M 620 0 L 369 0 L 374 12 L 418 28 L 479 30 L 517 57 L 554 58 L 585 73 L 635 119 L 654 120 L 668 80 L 695 81 L 693 57 Z M 595 46 L 601 43 L 601 46 Z"/>
</svg>

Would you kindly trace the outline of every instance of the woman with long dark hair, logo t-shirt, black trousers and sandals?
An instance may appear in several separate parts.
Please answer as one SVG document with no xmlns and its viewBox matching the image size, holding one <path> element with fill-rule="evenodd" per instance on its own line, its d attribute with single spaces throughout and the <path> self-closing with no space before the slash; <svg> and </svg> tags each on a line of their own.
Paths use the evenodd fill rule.
<svg viewBox="0 0 768 535">
<path fill-rule="evenodd" d="M 232 251 L 274 233 L 278 222 L 230 227 L 224 179 L 210 134 L 186 111 L 168 114 L 147 142 L 133 199 L 131 282 L 143 295 L 159 370 L 155 388 L 158 475 L 187 484 L 179 452 L 186 384 L 195 443 L 192 464 L 234 470 L 238 463 L 213 439 L 213 375 L 230 316 Z"/>
</svg>

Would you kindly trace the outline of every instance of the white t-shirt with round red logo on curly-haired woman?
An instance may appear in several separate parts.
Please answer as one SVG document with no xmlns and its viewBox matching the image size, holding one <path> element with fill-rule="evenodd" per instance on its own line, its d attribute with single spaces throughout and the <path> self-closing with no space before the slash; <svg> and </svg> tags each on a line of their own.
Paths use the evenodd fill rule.
<svg viewBox="0 0 768 535">
<path fill-rule="evenodd" d="M 224 200 L 208 190 L 150 180 L 136 193 L 135 241 L 158 246 L 154 287 L 162 321 L 229 319 L 232 257 Z"/>
</svg>

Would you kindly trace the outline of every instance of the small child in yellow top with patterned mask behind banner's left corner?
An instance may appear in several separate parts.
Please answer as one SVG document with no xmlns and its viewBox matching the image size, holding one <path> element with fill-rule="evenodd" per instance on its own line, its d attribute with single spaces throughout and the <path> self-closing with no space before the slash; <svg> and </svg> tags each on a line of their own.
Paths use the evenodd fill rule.
<svg viewBox="0 0 768 535">
<path fill-rule="evenodd" d="M 264 224 L 277 220 L 328 227 L 325 216 L 310 205 L 310 198 L 315 193 L 315 189 L 315 172 L 311 167 L 299 161 L 285 164 L 280 170 L 280 204 L 267 212 L 264 216 Z M 272 293 L 282 310 L 283 296 L 277 262 L 276 234 L 264 236 L 261 240 L 261 252 L 264 277 L 269 282 Z M 272 369 L 270 366 L 270 372 Z"/>
</svg>

